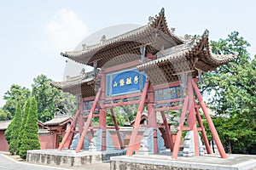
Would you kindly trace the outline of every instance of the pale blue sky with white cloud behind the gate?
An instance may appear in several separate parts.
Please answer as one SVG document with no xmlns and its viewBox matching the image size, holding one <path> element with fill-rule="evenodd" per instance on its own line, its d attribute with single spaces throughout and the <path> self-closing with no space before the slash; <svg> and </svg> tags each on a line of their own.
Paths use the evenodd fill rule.
<svg viewBox="0 0 256 170">
<path fill-rule="evenodd" d="M 67 67 L 60 53 L 71 51 L 95 31 L 122 24 L 146 25 L 165 8 L 176 35 L 201 35 L 218 41 L 239 31 L 256 54 L 256 0 L 0 0 L 0 107 L 12 84 L 31 88 L 44 74 L 62 81 Z"/>
</svg>

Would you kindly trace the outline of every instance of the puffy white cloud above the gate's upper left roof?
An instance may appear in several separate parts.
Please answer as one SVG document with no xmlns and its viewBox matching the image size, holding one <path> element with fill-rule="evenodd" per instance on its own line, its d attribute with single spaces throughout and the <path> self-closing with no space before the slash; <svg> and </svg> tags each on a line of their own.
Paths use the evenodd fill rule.
<svg viewBox="0 0 256 170">
<path fill-rule="evenodd" d="M 84 21 L 67 8 L 56 12 L 44 31 L 46 36 L 40 48 L 48 53 L 73 50 L 88 34 Z"/>
</svg>

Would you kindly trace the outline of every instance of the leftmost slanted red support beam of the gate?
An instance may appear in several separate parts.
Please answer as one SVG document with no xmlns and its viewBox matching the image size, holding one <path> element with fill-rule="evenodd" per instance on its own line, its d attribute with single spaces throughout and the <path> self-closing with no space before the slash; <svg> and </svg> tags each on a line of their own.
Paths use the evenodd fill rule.
<svg viewBox="0 0 256 170">
<path fill-rule="evenodd" d="M 67 142 L 67 138 L 69 136 L 69 133 L 71 131 L 73 131 L 73 129 L 75 129 L 76 124 L 77 124 L 77 119 L 80 116 L 81 111 L 83 110 L 83 104 L 84 104 L 84 102 L 83 102 L 83 99 L 81 97 L 80 102 L 79 102 L 79 110 L 76 112 L 75 116 L 73 117 L 73 121 L 71 122 L 71 125 L 67 128 L 67 132 L 66 132 L 66 134 L 64 135 L 64 138 L 61 141 L 61 144 L 58 148 L 58 151 L 61 151 L 63 149 L 64 144 Z M 69 144 L 71 144 L 71 142 L 69 142 Z M 68 147 L 69 147 L 69 145 L 68 145 Z"/>
</svg>

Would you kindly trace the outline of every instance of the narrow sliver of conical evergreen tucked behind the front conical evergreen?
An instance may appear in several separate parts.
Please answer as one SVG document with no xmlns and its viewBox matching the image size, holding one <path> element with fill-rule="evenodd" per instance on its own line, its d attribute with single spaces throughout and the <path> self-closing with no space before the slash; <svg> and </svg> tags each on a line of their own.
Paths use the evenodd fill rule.
<svg viewBox="0 0 256 170">
<path fill-rule="evenodd" d="M 19 150 L 20 150 L 23 135 L 25 133 L 26 119 L 27 119 L 27 115 L 29 113 L 30 103 L 31 103 L 31 97 L 29 97 L 26 100 L 26 104 L 25 104 L 24 109 L 23 109 L 23 117 L 22 117 L 22 123 L 21 123 L 21 127 L 20 127 L 20 135 L 19 135 L 19 142 L 18 142 Z M 19 154 L 19 150 L 18 150 L 17 154 Z"/>
</svg>

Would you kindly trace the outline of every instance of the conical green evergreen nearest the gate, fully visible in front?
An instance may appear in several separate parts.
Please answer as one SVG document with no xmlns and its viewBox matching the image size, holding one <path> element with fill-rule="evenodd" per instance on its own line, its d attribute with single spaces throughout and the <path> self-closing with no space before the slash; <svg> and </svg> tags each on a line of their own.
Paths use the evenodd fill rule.
<svg viewBox="0 0 256 170">
<path fill-rule="evenodd" d="M 26 159 L 27 150 L 39 150 L 40 143 L 38 137 L 38 104 L 35 98 L 31 99 L 31 105 L 26 118 L 26 125 L 21 139 L 19 155 L 21 159 Z"/>
</svg>

